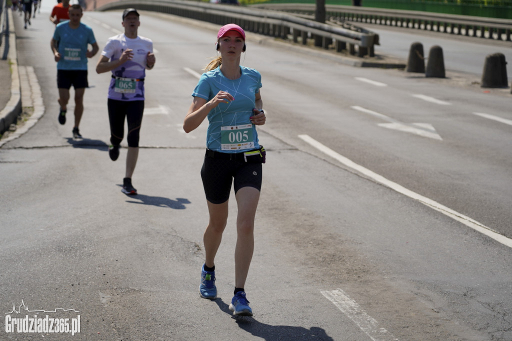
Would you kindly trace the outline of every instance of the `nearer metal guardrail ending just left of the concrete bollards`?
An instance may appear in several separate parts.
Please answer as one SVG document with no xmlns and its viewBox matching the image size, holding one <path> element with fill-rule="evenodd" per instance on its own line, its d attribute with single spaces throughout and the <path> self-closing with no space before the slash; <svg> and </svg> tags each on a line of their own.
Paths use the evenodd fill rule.
<svg viewBox="0 0 512 341">
<path fill-rule="evenodd" d="M 336 52 L 347 50 L 348 53 L 357 54 L 359 57 L 373 57 L 374 45 L 378 45 L 378 35 L 362 28 L 333 27 L 296 15 L 253 7 L 181 0 L 123 0 L 94 8 L 105 11 L 128 7 L 174 14 L 218 25 L 234 23 L 248 32 L 292 39 L 294 42 L 300 39 L 303 45 L 307 45 L 308 40 L 321 37 L 324 49 L 333 48 Z"/>
</svg>

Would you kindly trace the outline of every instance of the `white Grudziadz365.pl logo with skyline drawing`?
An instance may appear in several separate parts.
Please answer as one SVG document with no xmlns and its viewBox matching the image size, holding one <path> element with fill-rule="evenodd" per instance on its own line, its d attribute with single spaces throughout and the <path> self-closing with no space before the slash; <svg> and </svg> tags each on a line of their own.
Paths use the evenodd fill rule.
<svg viewBox="0 0 512 341">
<path fill-rule="evenodd" d="M 39 313 L 79 313 L 75 309 L 55 308 L 53 310 L 30 310 L 23 302 L 16 310 L 16 304 L 12 304 L 12 310 L 5 313 L 5 332 L 6 333 L 75 333 L 80 332 L 80 315 L 76 317 L 44 317 L 38 316 Z M 29 317 L 29 313 L 34 317 Z M 25 314 L 25 317 L 12 317 L 11 314 Z"/>
</svg>

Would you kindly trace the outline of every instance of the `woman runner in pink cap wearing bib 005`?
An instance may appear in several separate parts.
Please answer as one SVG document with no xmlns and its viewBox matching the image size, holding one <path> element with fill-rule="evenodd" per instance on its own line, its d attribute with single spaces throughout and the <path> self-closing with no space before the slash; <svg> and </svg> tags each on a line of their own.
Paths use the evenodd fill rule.
<svg viewBox="0 0 512 341">
<path fill-rule="evenodd" d="M 205 262 L 199 292 L 205 299 L 217 297 L 215 255 L 227 224 L 231 185 L 238 204 L 237 244 L 234 251 L 235 289 L 229 309 L 234 315 L 252 316 L 245 295 L 245 281 L 254 249 L 254 217 L 260 199 L 265 149 L 257 125 L 265 124 L 258 71 L 240 65 L 246 50 L 245 32 L 228 24 L 217 34 L 220 56 L 205 68 L 192 93 L 194 97 L 183 130 L 195 130 L 208 118 L 206 155 L 201 169 L 209 212 L 204 232 Z"/>
</svg>

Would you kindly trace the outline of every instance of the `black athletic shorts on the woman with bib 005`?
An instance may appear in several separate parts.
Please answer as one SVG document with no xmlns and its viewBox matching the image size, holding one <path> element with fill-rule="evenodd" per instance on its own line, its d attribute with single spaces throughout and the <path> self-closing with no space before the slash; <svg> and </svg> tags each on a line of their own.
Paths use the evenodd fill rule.
<svg viewBox="0 0 512 341">
<path fill-rule="evenodd" d="M 214 204 L 226 202 L 229 199 L 231 183 L 234 185 L 235 194 L 242 187 L 254 187 L 261 191 L 262 168 L 261 163 L 205 156 L 201 179 L 206 200 Z"/>
</svg>

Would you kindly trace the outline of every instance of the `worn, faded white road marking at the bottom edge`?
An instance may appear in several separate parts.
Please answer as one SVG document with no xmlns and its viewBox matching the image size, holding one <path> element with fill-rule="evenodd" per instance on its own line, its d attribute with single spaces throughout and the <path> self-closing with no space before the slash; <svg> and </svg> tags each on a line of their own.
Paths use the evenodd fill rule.
<svg viewBox="0 0 512 341">
<path fill-rule="evenodd" d="M 342 289 L 321 291 L 322 295 L 347 315 L 356 325 L 374 341 L 398 340 L 385 328 L 379 328 L 379 323 L 368 315 Z"/>
</svg>

